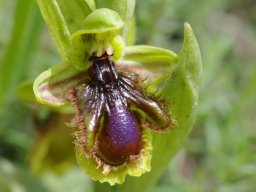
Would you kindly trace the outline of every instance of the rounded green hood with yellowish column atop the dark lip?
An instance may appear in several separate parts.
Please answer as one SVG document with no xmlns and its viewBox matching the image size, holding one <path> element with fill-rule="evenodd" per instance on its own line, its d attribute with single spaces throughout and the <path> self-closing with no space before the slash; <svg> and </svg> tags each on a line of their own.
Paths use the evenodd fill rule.
<svg viewBox="0 0 256 192">
<path fill-rule="evenodd" d="M 93 11 L 85 18 L 81 29 L 72 34 L 69 62 L 85 70 L 93 53 L 101 56 L 107 51 L 109 55 L 113 54 L 114 60 L 119 59 L 124 49 L 124 41 L 119 36 L 123 25 L 122 18 L 113 10 L 101 8 Z"/>
</svg>

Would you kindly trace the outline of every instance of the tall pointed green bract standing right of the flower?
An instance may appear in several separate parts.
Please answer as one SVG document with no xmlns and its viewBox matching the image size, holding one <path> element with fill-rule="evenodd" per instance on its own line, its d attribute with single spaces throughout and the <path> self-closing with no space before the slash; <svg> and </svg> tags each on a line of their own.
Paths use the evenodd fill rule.
<svg viewBox="0 0 256 192">
<path fill-rule="evenodd" d="M 114 188 L 103 184 L 104 191 L 154 191 L 154 186 L 163 170 L 183 146 L 190 133 L 196 114 L 197 92 L 202 72 L 202 62 L 196 38 L 189 24 L 185 24 L 184 31 L 184 46 L 179 53 L 178 67 L 161 90 L 163 96 L 171 104 L 170 110 L 177 120 L 178 127 L 167 134 L 154 134 L 152 169 L 150 173 L 139 178 L 128 177 L 123 185 L 115 186 Z M 99 192 L 101 186 L 98 185 L 102 184 L 96 183 L 95 185 L 96 192 Z"/>
</svg>

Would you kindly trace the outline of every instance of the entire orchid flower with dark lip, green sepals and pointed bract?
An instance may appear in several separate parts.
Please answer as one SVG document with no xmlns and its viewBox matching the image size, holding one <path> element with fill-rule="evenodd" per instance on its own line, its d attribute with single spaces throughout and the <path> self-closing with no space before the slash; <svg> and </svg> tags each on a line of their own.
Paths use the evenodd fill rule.
<svg viewBox="0 0 256 192">
<path fill-rule="evenodd" d="M 179 55 L 128 46 L 135 2 L 96 2 L 38 0 L 63 63 L 40 74 L 33 90 L 38 102 L 74 111 L 78 164 L 114 185 L 150 171 L 159 152 L 152 152 L 152 131 L 163 132 L 163 141 L 184 132 L 170 149 L 178 150 L 194 119 L 201 60 L 188 24 Z"/>
</svg>

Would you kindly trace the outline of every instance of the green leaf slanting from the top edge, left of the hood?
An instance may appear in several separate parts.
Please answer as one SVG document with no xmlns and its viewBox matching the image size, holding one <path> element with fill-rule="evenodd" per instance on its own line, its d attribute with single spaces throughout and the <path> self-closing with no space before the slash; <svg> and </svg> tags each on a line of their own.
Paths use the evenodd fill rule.
<svg viewBox="0 0 256 192">
<path fill-rule="evenodd" d="M 92 11 L 84 0 L 37 0 L 52 38 L 65 59 L 71 46 L 71 34 L 81 27 L 84 18 Z"/>
</svg>

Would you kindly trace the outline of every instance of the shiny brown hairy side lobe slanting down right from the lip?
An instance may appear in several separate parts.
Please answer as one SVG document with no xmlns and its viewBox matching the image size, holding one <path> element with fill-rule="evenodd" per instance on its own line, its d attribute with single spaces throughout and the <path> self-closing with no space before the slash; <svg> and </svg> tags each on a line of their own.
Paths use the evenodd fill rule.
<svg viewBox="0 0 256 192">
<path fill-rule="evenodd" d="M 140 123 L 145 123 L 154 131 L 166 131 L 176 127 L 176 121 L 168 109 L 169 103 L 161 100 L 160 96 L 155 93 L 149 93 L 139 79 L 136 80 L 135 77 L 131 80 L 123 75 L 120 85 L 122 94 L 125 96 L 128 93 L 130 98 L 133 98 L 131 109 L 141 117 Z"/>
</svg>

